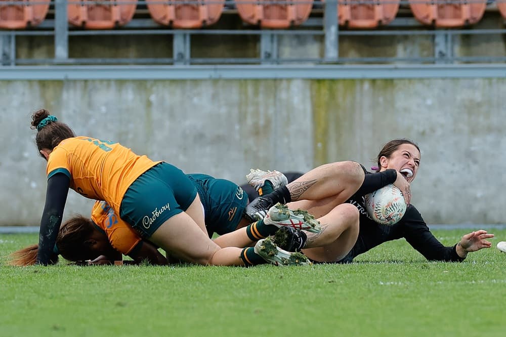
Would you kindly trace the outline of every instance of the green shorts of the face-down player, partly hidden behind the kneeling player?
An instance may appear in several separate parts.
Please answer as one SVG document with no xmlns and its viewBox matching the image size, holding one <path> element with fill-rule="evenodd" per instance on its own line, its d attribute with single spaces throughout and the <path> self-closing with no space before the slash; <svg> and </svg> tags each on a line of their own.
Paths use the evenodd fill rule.
<svg viewBox="0 0 506 337">
<path fill-rule="evenodd" d="M 229 180 L 203 174 L 190 174 L 188 178 L 194 182 L 204 206 L 209 237 L 213 233 L 222 235 L 234 231 L 248 203 L 248 196 L 242 188 Z"/>
</svg>

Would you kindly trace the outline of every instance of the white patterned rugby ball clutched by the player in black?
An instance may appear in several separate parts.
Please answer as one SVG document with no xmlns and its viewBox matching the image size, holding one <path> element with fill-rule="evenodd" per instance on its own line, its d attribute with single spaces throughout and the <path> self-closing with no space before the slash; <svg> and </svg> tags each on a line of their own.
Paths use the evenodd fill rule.
<svg viewBox="0 0 506 337">
<path fill-rule="evenodd" d="M 406 201 L 401 190 L 393 184 L 365 195 L 365 208 L 377 223 L 391 226 L 399 222 L 406 213 Z"/>
</svg>

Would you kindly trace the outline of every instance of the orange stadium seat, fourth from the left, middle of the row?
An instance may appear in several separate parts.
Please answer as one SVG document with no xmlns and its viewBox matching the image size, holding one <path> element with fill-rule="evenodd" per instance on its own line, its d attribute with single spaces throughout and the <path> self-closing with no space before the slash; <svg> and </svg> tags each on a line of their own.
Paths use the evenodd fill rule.
<svg viewBox="0 0 506 337">
<path fill-rule="evenodd" d="M 313 7 L 313 0 L 236 0 L 241 19 L 262 28 L 288 28 L 306 21 Z"/>
</svg>

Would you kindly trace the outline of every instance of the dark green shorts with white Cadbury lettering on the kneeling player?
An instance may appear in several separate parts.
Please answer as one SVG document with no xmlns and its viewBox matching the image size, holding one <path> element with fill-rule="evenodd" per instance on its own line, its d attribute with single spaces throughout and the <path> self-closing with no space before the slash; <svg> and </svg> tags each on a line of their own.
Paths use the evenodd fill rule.
<svg viewBox="0 0 506 337">
<path fill-rule="evenodd" d="M 143 238 L 149 238 L 168 219 L 184 212 L 197 190 L 176 166 L 160 162 L 137 178 L 126 190 L 119 217 Z"/>
</svg>

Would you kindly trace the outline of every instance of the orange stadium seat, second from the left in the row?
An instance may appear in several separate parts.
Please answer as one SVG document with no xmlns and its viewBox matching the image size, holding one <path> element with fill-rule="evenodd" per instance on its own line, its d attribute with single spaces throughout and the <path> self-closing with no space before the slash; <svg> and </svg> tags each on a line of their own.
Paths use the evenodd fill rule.
<svg viewBox="0 0 506 337">
<path fill-rule="evenodd" d="M 93 0 L 69 0 L 68 22 L 87 29 L 111 29 L 132 20 L 137 0 L 109 0 L 100 3 Z"/>
</svg>

